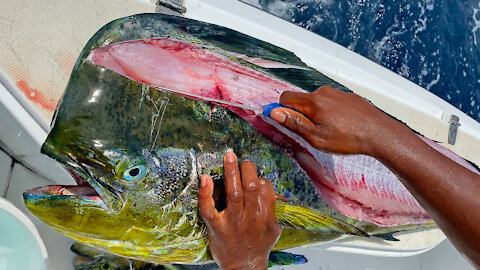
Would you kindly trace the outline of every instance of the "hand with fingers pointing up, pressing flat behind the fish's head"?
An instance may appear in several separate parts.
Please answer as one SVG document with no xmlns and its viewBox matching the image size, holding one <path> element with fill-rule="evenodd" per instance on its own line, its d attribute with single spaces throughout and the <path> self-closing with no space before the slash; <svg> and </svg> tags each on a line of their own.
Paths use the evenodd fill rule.
<svg viewBox="0 0 480 270">
<path fill-rule="evenodd" d="M 201 177 L 198 193 L 212 256 L 222 269 L 267 269 L 268 255 L 281 233 L 272 183 L 258 178 L 251 161 L 243 161 L 239 170 L 233 152 L 225 154 L 223 163 L 225 210 L 215 209 L 210 176 Z"/>
</svg>

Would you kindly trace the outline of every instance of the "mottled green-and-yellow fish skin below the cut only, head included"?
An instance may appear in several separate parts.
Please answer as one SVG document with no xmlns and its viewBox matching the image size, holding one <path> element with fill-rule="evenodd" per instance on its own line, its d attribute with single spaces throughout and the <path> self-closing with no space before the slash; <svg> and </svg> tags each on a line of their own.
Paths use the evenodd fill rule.
<svg viewBox="0 0 480 270">
<path fill-rule="evenodd" d="M 149 89 L 89 62 L 72 73 L 42 151 L 79 174 L 102 200 L 47 187 L 25 192 L 25 205 L 54 229 L 105 252 L 156 264 L 208 263 L 212 257 L 197 213 L 198 177 L 221 179 L 228 148 L 239 159 L 261 164 L 260 175 L 290 202 L 316 209 L 316 216 L 334 213 L 296 163 L 235 113 Z M 122 177 L 139 165 L 148 169 L 144 178 Z M 286 202 L 277 204 L 290 209 Z M 347 223 L 323 219 L 326 226 L 283 223 L 275 249 L 346 233 L 366 236 Z M 285 220 L 292 220 L 288 213 Z"/>
</svg>

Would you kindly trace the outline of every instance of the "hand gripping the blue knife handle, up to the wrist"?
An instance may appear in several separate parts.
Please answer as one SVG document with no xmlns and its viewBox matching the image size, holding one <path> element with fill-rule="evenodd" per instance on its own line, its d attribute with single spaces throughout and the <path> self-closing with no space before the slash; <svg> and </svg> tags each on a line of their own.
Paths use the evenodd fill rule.
<svg viewBox="0 0 480 270">
<path fill-rule="evenodd" d="M 371 138 L 392 124 L 359 95 L 322 86 L 314 93 L 283 92 L 270 116 L 313 147 L 338 154 L 373 155 Z M 394 121 L 395 122 L 395 121 Z"/>
</svg>

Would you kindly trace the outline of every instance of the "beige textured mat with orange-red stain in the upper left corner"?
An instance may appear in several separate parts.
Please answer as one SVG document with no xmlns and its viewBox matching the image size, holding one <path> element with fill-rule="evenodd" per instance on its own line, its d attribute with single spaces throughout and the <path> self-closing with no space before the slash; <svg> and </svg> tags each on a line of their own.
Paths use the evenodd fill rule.
<svg viewBox="0 0 480 270">
<path fill-rule="evenodd" d="M 155 12 L 150 1 L 1 1 L 0 70 L 15 96 L 44 126 L 88 39 L 104 24 Z"/>
</svg>

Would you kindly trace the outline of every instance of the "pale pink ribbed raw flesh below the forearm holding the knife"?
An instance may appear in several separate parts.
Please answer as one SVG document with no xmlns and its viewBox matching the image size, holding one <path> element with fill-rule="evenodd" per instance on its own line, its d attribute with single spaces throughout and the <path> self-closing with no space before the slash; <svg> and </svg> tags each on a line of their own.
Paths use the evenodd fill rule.
<svg viewBox="0 0 480 270">
<path fill-rule="evenodd" d="M 472 165 L 452 151 L 427 138 L 419 137 L 456 163 L 478 173 Z M 316 158 L 318 160 L 326 157 L 323 152 L 316 152 Z M 423 207 L 398 181 L 396 175 L 385 170 L 385 166 L 379 161 L 363 155 L 332 155 L 330 158 L 333 159 L 332 163 L 325 162 L 328 164 L 326 166 L 328 172 L 325 172 L 322 177 L 313 179 L 315 186 L 321 191 L 322 198 L 340 213 L 352 213 L 353 208 L 356 212 L 349 216 L 364 221 L 373 220 L 373 223 L 380 226 L 432 222 Z M 375 173 L 372 174 L 372 171 Z M 328 175 L 335 177 L 328 177 Z M 372 193 L 376 196 L 371 196 Z M 369 208 L 366 209 L 361 205 L 368 205 Z M 344 206 L 348 206 L 349 209 L 343 211 Z M 381 213 L 383 215 L 379 215 Z M 369 216 L 371 218 L 365 219 Z"/>
</svg>

